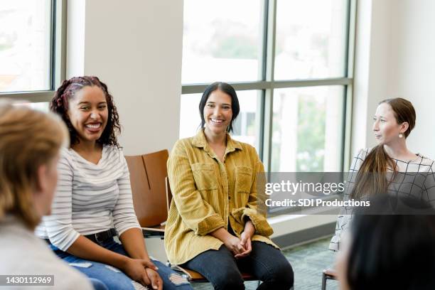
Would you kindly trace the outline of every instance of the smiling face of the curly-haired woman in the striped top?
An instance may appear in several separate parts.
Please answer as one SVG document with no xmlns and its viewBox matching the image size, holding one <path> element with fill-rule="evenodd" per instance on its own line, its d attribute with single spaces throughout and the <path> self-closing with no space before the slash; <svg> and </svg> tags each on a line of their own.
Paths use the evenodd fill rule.
<svg viewBox="0 0 435 290">
<path fill-rule="evenodd" d="M 97 141 L 109 115 L 104 92 L 97 86 L 83 87 L 70 100 L 67 113 L 80 141 Z"/>
</svg>

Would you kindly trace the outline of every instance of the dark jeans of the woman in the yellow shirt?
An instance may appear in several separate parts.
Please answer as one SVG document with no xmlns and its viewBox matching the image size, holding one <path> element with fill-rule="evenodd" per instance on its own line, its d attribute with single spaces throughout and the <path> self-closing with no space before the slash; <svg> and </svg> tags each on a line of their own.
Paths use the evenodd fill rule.
<svg viewBox="0 0 435 290">
<path fill-rule="evenodd" d="M 225 245 L 209 249 L 181 265 L 202 274 L 215 290 L 245 289 L 242 274 L 246 272 L 263 281 L 257 289 L 288 290 L 293 286 L 293 269 L 279 249 L 264 242 L 252 242 L 252 252 L 235 259 Z"/>
</svg>

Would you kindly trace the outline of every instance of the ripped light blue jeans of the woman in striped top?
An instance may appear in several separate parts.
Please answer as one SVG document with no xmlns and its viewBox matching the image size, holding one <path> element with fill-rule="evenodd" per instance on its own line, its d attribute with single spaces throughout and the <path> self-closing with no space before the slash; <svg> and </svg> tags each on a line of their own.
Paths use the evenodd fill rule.
<svg viewBox="0 0 435 290">
<path fill-rule="evenodd" d="M 116 252 L 118 254 L 123 254 L 124 256 L 128 256 L 127 252 L 125 252 L 124 247 L 114 240 L 108 240 L 107 242 L 99 243 L 101 247 L 111 250 L 112 252 Z M 102 264 L 95 261 L 89 261 L 86 259 L 81 259 L 79 257 L 75 257 L 72 254 L 68 254 L 68 252 L 63 252 L 57 247 L 50 245 L 51 249 L 55 252 L 55 254 L 63 259 L 65 262 L 68 262 L 71 266 L 75 267 L 78 271 L 82 272 L 86 276 L 90 277 L 91 282 L 95 289 L 108 289 L 108 290 L 118 290 L 118 289 L 131 289 L 134 290 L 133 281 L 124 274 L 121 270 L 109 266 L 107 264 Z M 167 267 L 165 264 L 152 260 L 152 262 L 159 268 L 157 272 L 161 276 L 163 280 L 163 289 L 165 290 L 190 290 L 192 287 L 188 283 L 186 279 L 180 279 L 179 274 L 173 271 L 173 269 Z M 175 276 L 174 276 L 175 275 Z M 173 280 L 173 281 L 171 281 Z"/>
</svg>

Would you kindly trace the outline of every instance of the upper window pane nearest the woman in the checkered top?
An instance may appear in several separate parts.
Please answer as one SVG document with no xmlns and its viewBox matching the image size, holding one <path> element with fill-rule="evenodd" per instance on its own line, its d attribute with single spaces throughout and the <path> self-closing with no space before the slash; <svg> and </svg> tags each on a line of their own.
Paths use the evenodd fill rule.
<svg viewBox="0 0 435 290">
<path fill-rule="evenodd" d="M 345 77 L 347 0 L 277 0 L 275 79 Z"/>
</svg>

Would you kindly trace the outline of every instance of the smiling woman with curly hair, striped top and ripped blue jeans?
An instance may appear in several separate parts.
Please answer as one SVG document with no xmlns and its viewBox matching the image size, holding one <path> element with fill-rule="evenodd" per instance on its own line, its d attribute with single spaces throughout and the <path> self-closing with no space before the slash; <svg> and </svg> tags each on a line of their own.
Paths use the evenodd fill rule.
<svg viewBox="0 0 435 290">
<path fill-rule="evenodd" d="M 71 141 L 60 157 L 53 213 L 44 218 L 38 235 L 58 257 L 107 289 L 191 289 L 170 268 L 151 262 L 146 252 L 107 85 L 90 76 L 65 80 L 50 109 L 67 124 Z M 122 245 L 113 240 L 115 235 Z"/>
</svg>

